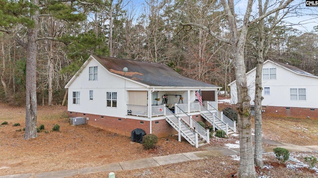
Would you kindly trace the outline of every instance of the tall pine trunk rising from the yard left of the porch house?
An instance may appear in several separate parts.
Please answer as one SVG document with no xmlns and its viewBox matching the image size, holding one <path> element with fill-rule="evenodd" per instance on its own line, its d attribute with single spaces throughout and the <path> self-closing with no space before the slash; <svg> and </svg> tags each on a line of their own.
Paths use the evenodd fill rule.
<svg viewBox="0 0 318 178">
<path fill-rule="evenodd" d="M 32 0 L 31 0 L 32 2 Z M 35 5 L 38 0 L 34 0 Z M 26 47 L 26 106 L 25 106 L 25 134 L 24 139 L 35 138 L 37 134 L 37 100 L 36 100 L 36 58 L 37 58 L 37 36 L 39 11 L 36 10 L 31 16 L 34 27 L 27 31 Z"/>
</svg>

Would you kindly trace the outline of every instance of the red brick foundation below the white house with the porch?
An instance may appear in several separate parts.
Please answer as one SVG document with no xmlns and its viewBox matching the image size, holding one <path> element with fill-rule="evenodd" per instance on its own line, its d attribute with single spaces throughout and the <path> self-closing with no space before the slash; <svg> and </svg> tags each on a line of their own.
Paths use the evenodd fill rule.
<svg viewBox="0 0 318 178">
<path fill-rule="evenodd" d="M 86 124 L 89 126 L 101 128 L 103 130 L 117 133 L 121 135 L 131 136 L 134 129 L 142 129 L 146 134 L 150 133 L 150 121 L 143 121 L 137 119 L 125 119 L 111 116 L 100 116 L 94 114 L 83 114 L 78 112 L 68 112 L 69 117 L 85 117 Z M 168 135 L 178 134 L 176 130 L 170 126 L 165 119 L 152 121 L 152 134 L 158 137 L 165 137 Z"/>
</svg>

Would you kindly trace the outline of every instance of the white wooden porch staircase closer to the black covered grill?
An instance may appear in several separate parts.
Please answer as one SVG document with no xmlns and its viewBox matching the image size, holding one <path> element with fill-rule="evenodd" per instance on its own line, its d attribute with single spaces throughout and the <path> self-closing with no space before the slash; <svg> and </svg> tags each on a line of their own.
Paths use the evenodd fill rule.
<svg viewBox="0 0 318 178">
<path fill-rule="evenodd" d="M 179 116 L 178 114 L 172 113 L 168 108 L 165 108 L 165 120 L 176 131 L 178 131 L 179 141 L 181 141 L 182 136 L 196 148 L 210 143 L 210 135 L 208 130 L 205 130 L 202 126 L 197 124 L 197 122 L 194 121 L 190 116 L 187 116 L 186 113 L 180 111 L 178 112 L 183 114 L 180 114 L 181 116 Z"/>
</svg>

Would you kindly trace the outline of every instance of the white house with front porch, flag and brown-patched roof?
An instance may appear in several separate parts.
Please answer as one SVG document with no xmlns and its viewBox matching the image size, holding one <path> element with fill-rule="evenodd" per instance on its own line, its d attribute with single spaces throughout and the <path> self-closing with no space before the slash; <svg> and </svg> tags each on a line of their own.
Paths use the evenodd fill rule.
<svg viewBox="0 0 318 178">
<path fill-rule="evenodd" d="M 158 136 L 182 135 L 177 128 L 179 118 L 187 127 L 202 130 L 193 120 L 205 121 L 204 117 L 217 109 L 220 89 L 183 77 L 164 64 L 95 55 L 85 61 L 65 88 L 70 117 L 84 117 L 89 125 L 119 134 L 143 129 L 146 134 Z M 202 99 L 209 101 L 205 102 L 209 109 L 198 103 L 198 90 Z M 224 119 L 222 122 L 225 127 L 227 123 Z M 227 125 L 229 129 L 224 130 L 228 132 L 235 123 Z M 193 129 L 191 132 L 195 133 Z"/>
</svg>

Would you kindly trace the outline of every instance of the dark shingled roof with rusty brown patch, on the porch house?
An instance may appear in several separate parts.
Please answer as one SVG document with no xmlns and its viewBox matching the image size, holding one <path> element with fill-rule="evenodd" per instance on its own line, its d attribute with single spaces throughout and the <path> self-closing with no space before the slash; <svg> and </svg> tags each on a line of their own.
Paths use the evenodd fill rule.
<svg viewBox="0 0 318 178">
<path fill-rule="evenodd" d="M 212 84 L 183 77 L 165 64 L 95 55 L 92 56 L 111 73 L 125 76 L 126 78 L 149 86 L 219 88 Z M 124 67 L 128 68 L 127 73 L 123 72 Z"/>
</svg>

